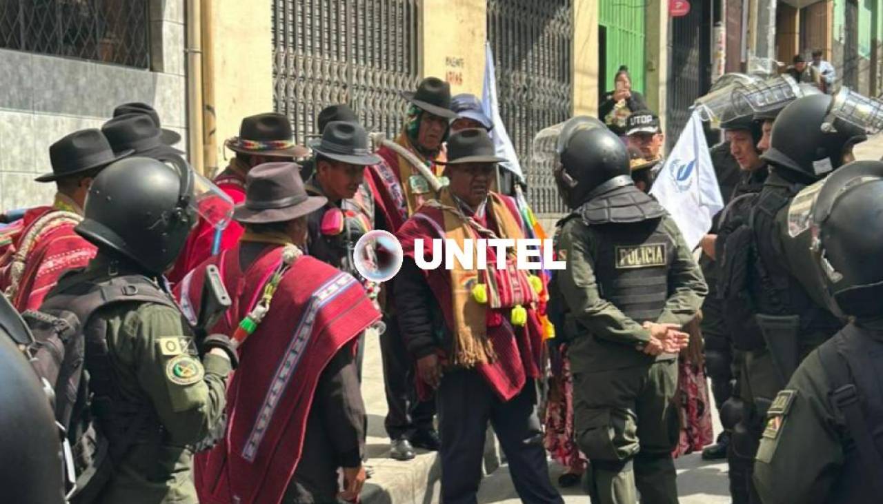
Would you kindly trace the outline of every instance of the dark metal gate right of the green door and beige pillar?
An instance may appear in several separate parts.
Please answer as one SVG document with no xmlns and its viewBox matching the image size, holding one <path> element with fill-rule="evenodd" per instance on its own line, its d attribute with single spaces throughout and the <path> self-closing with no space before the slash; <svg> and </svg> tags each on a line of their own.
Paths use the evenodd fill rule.
<svg viewBox="0 0 883 504">
<path fill-rule="evenodd" d="M 693 102 L 711 87 L 710 1 L 691 2 L 690 13 L 671 19 L 666 143 L 670 152 L 690 119 Z"/>
</svg>

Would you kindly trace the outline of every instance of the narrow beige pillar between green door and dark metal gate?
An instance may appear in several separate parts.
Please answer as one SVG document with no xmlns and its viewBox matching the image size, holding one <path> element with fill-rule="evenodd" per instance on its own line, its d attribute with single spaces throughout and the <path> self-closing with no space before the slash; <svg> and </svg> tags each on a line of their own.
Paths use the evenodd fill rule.
<svg viewBox="0 0 883 504">
<path fill-rule="evenodd" d="M 649 0 L 646 7 L 645 97 L 665 131 L 668 86 L 668 0 Z"/>
</svg>

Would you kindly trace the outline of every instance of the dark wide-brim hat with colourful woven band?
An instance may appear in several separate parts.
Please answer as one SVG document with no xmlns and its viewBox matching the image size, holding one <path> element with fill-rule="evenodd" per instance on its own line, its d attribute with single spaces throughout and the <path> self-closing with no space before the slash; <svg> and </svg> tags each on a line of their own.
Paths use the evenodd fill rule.
<svg viewBox="0 0 883 504">
<path fill-rule="evenodd" d="M 268 157 L 301 158 L 310 150 L 294 143 L 288 117 L 275 112 L 245 117 L 239 135 L 224 141 L 233 152 Z"/>
</svg>

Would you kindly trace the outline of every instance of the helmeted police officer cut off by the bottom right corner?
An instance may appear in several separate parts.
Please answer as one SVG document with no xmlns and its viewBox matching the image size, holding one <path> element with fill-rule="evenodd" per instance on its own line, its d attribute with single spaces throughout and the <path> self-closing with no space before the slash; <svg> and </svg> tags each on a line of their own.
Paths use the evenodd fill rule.
<svg viewBox="0 0 883 504">
<path fill-rule="evenodd" d="M 789 208 L 792 230 L 817 237 L 811 249 L 793 249 L 804 258 L 789 259 L 812 264 L 805 275 L 819 279 L 820 297 L 851 322 L 804 359 L 767 410 L 754 472 L 766 504 L 861 504 L 883 495 L 880 192 L 883 162 L 852 162 L 797 196 L 810 205 Z"/>
</svg>

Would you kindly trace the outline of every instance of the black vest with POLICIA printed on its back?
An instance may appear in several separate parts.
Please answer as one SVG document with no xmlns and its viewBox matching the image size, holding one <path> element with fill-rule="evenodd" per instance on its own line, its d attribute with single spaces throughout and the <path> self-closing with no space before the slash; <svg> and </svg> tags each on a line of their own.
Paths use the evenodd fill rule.
<svg viewBox="0 0 883 504">
<path fill-rule="evenodd" d="M 594 257 L 600 295 L 631 320 L 657 320 L 668 299 L 675 243 L 659 222 L 592 227 L 600 238 Z"/>
</svg>

